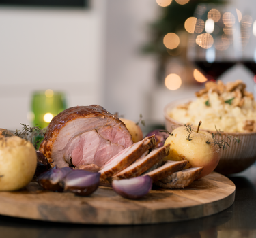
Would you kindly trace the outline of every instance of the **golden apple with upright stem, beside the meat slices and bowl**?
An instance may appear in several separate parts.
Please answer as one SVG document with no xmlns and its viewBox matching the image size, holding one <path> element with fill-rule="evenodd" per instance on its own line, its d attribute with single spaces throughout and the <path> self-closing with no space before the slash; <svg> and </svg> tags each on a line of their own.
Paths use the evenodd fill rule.
<svg viewBox="0 0 256 238">
<path fill-rule="evenodd" d="M 203 166 L 198 178 L 204 177 L 218 165 L 221 150 L 218 145 L 214 145 L 212 135 L 206 131 L 192 130 L 190 137 L 188 135 L 185 126 L 173 130 L 172 135 L 165 141 L 165 145 L 171 145 L 170 153 L 165 160 L 188 160 L 185 169 Z"/>
</svg>

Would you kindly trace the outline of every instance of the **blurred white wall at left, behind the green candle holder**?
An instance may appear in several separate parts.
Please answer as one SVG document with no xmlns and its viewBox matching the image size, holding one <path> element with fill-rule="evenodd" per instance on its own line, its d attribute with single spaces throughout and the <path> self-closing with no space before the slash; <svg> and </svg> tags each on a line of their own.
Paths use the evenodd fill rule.
<svg viewBox="0 0 256 238">
<path fill-rule="evenodd" d="M 0 127 L 29 124 L 34 90 L 66 92 L 68 106 L 102 104 L 104 1 L 90 9 L 0 8 Z"/>
</svg>

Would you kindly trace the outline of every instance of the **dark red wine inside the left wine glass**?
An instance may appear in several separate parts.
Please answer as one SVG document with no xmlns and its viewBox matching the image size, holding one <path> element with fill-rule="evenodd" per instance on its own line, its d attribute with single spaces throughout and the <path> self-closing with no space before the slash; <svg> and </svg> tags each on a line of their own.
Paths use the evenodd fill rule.
<svg viewBox="0 0 256 238">
<path fill-rule="evenodd" d="M 209 63 L 207 61 L 194 61 L 195 65 L 197 65 L 202 73 L 207 75 L 208 80 L 214 79 L 217 80 L 220 75 L 222 75 L 227 69 L 236 65 L 235 61 L 214 61 Z M 255 67 L 256 70 L 256 67 Z M 255 73 L 256 74 L 256 73 Z"/>
</svg>

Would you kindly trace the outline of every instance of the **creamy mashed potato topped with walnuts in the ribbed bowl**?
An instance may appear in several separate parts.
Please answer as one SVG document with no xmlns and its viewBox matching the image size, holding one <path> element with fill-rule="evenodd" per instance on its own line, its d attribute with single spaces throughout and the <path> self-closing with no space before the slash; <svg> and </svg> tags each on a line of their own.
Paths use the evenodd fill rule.
<svg viewBox="0 0 256 238">
<path fill-rule="evenodd" d="M 197 98 L 171 109 L 168 115 L 184 124 L 197 125 L 201 129 L 227 133 L 256 131 L 256 102 L 246 91 L 242 80 L 236 82 L 207 82 L 205 88 L 196 92 Z"/>
</svg>

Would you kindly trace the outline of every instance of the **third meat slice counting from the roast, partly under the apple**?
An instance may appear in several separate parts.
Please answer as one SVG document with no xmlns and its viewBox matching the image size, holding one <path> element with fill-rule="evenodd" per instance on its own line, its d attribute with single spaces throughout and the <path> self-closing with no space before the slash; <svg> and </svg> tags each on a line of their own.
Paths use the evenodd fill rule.
<svg viewBox="0 0 256 238">
<path fill-rule="evenodd" d="M 182 161 L 167 161 L 165 165 L 154 169 L 149 173 L 144 173 L 143 176 L 149 175 L 153 182 L 162 180 L 163 178 L 171 175 L 172 173 L 183 169 L 186 166 L 187 160 Z"/>
</svg>

